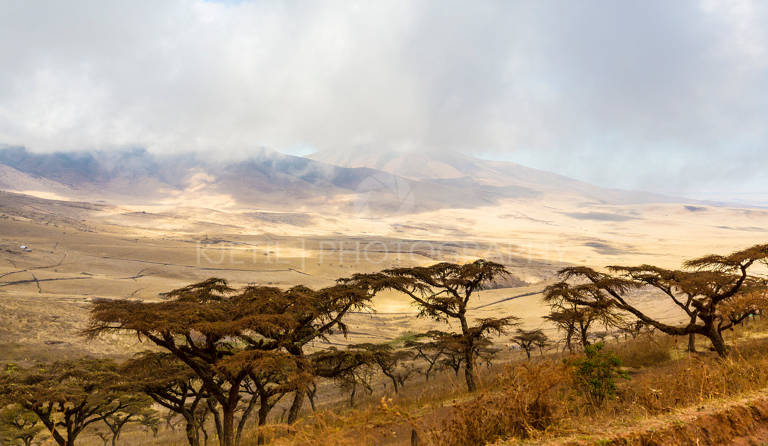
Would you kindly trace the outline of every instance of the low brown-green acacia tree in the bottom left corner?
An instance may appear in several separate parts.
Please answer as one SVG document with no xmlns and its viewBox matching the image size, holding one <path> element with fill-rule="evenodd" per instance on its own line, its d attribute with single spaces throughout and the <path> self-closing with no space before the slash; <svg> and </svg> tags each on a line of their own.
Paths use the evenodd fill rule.
<svg viewBox="0 0 768 446">
<path fill-rule="evenodd" d="M 123 387 L 114 361 L 81 358 L 28 369 L 7 365 L 0 398 L 37 415 L 59 446 L 74 446 L 89 425 L 141 401 L 141 395 Z"/>
</svg>

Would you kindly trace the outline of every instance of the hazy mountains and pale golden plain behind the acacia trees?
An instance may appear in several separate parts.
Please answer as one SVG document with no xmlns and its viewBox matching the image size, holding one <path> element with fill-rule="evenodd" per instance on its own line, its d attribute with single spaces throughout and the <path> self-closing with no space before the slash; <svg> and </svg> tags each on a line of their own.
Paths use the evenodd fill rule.
<svg viewBox="0 0 768 446">
<path fill-rule="evenodd" d="M 544 314 L 538 292 L 563 266 L 677 268 L 760 243 L 768 231 L 765 209 L 650 195 L 637 204 L 631 192 L 517 165 L 455 154 L 440 162 L 465 177 L 442 164 L 406 178 L 378 164 L 335 167 L 270 150 L 218 164 L 143 151 L 0 150 L 0 296 L 76 302 L 72 311 L 84 317 L 91 299 L 158 299 L 211 276 L 322 287 L 357 272 L 485 258 L 511 277 L 482 292 L 476 316 L 514 314 L 535 327 Z M 436 173 L 443 177 L 425 178 Z M 429 325 L 402 296 L 382 296 L 376 308 L 374 318 L 355 316 L 356 339 Z"/>
</svg>

